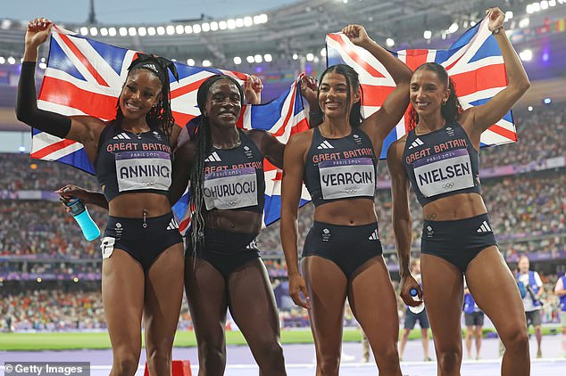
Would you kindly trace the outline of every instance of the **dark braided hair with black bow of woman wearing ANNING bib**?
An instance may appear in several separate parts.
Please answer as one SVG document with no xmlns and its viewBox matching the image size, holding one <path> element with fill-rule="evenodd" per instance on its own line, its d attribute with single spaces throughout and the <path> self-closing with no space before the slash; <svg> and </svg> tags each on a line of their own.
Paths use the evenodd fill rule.
<svg viewBox="0 0 566 376">
<path fill-rule="evenodd" d="M 132 61 L 128 68 L 128 77 L 138 69 L 146 69 L 154 73 L 154 75 L 159 78 L 162 83 L 160 100 L 146 114 L 147 125 L 151 129 L 161 127 L 164 135 L 171 136 L 173 124 L 175 124 L 175 118 L 173 117 L 173 114 L 171 112 L 171 87 L 169 72 L 167 69 L 170 69 L 173 77 L 179 80 L 177 69 L 175 68 L 175 65 L 172 61 L 169 61 L 162 57 L 146 55 L 144 53 L 139 53 L 138 55 L 139 57 L 136 60 Z M 146 63 L 153 63 L 153 69 L 148 69 L 146 67 Z M 126 83 L 124 83 L 124 85 L 126 85 Z M 119 97 L 118 102 L 116 103 L 116 124 L 118 126 L 121 126 L 123 119 L 124 115 L 121 112 Z"/>
</svg>

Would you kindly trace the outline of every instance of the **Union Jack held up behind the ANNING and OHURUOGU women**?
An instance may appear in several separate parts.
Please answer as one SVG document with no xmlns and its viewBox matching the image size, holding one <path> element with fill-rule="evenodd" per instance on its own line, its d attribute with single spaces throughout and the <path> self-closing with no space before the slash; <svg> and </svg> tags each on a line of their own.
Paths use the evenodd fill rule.
<svg viewBox="0 0 566 376">
<path fill-rule="evenodd" d="M 128 75 L 128 67 L 137 52 L 107 45 L 54 25 L 51 35 L 49 58 L 37 106 L 62 115 L 89 115 L 110 120 L 115 117 L 116 103 Z M 215 74 L 229 75 L 240 84 L 246 74 L 230 70 L 187 66 L 175 62 L 179 71 L 179 82 L 172 76 L 171 109 L 179 125 L 200 115 L 196 106 L 196 91 L 206 78 Z M 238 127 L 265 129 L 275 135 L 281 143 L 287 143 L 290 135 L 308 128 L 303 101 L 296 82 L 278 99 L 256 106 L 245 106 L 238 120 Z M 31 157 L 56 160 L 94 174 L 82 144 L 32 130 Z M 280 171 L 264 160 L 266 177 L 266 203 L 264 224 L 270 225 L 279 219 Z M 309 200 L 308 194 L 302 203 Z M 176 206 L 182 219 L 183 230 L 187 229 L 190 211 L 188 197 L 184 196 Z"/>
</svg>

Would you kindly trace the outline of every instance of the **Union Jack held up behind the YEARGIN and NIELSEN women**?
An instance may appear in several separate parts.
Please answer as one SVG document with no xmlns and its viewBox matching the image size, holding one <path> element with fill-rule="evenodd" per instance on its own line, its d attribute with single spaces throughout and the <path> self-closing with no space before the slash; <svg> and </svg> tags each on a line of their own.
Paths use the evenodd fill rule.
<svg viewBox="0 0 566 376">
<path fill-rule="evenodd" d="M 360 75 L 364 116 L 367 118 L 379 110 L 387 95 L 395 89 L 395 82 L 387 69 L 371 53 L 350 42 L 344 34 L 327 35 L 326 45 L 329 66 L 345 63 Z M 487 29 L 487 19 L 468 29 L 447 50 L 401 50 L 394 54 L 413 70 L 428 61 L 444 66 L 454 80 L 464 110 L 489 101 L 507 86 L 504 59 L 495 37 Z M 387 135 L 381 159 L 387 157 L 389 145 L 409 131 L 408 113 L 405 112 L 404 119 Z M 516 141 L 511 111 L 481 135 L 482 146 Z"/>
</svg>

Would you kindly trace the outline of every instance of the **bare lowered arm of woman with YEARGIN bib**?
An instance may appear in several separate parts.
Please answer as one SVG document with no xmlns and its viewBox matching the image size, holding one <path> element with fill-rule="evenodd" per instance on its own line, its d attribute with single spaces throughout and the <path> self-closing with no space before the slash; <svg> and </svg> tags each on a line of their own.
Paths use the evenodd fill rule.
<svg viewBox="0 0 566 376">
<path fill-rule="evenodd" d="M 306 284 L 299 273 L 297 257 L 297 213 L 303 189 L 304 152 L 309 144 L 309 135 L 303 132 L 293 135 L 285 149 L 283 159 L 283 181 L 281 187 L 281 244 L 287 263 L 289 295 L 297 306 L 309 308 Z M 304 300 L 301 298 L 303 292 Z"/>
</svg>

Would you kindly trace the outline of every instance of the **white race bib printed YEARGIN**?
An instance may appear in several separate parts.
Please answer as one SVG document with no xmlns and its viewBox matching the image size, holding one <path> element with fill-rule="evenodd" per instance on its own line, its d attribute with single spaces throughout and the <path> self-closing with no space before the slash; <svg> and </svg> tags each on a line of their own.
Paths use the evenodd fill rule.
<svg viewBox="0 0 566 376">
<path fill-rule="evenodd" d="M 375 168 L 370 158 L 323 160 L 319 171 L 324 200 L 373 197 Z"/>
</svg>

